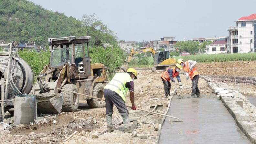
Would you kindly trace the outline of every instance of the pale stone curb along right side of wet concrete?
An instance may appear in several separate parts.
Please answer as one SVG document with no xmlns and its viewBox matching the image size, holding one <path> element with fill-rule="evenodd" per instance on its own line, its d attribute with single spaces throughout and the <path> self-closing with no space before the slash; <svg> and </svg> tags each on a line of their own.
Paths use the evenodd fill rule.
<svg viewBox="0 0 256 144">
<path fill-rule="evenodd" d="M 209 82 L 208 82 L 209 84 Z M 225 89 L 230 89 L 234 95 L 234 98 L 230 97 L 221 97 L 223 105 L 227 108 L 230 115 L 236 121 L 237 126 L 240 130 L 245 134 L 245 136 L 251 141 L 251 143 L 256 144 L 256 123 L 251 121 L 250 116 L 247 112 L 238 104 L 242 98 L 245 98 L 242 94 L 240 94 L 237 90 L 234 90 L 233 87 L 228 86 L 226 83 L 217 83 L 217 84 L 209 84 L 209 87 L 213 90 L 213 87 L 219 86 L 224 87 Z M 218 95 L 221 93 L 217 93 Z"/>
</svg>

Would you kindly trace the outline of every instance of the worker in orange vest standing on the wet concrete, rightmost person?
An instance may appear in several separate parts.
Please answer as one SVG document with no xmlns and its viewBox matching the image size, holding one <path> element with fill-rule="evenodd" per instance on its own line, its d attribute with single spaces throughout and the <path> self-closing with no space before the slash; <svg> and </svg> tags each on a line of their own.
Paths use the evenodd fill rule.
<svg viewBox="0 0 256 144">
<path fill-rule="evenodd" d="M 190 78 L 192 80 L 192 92 L 191 92 L 191 97 L 194 98 L 200 98 L 200 91 L 198 89 L 198 80 L 199 80 L 199 73 L 197 71 L 197 68 L 195 67 L 195 65 L 197 64 L 196 61 L 193 60 L 187 60 L 184 61 L 182 58 L 179 58 L 177 60 L 178 64 L 180 64 L 182 67 L 184 67 L 184 70 L 186 71 L 186 75 L 187 75 L 187 80 Z M 197 95 L 197 97 L 195 96 Z"/>
</svg>

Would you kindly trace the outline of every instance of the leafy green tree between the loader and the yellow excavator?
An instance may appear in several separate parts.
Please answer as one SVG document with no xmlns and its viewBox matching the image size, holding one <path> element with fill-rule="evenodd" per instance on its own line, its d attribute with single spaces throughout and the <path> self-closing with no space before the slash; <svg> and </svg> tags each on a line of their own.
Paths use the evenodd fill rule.
<svg viewBox="0 0 256 144">
<path fill-rule="evenodd" d="M 107 46 L 106 48 L 98 46 L 91 48 L 91 58 L 93 63 L 102 63 L 105 65 L 109 78 L 112 78 L 116 70 L 118 70 L 125 61 L 124 51 L 117 44 Z"/>
</svg>

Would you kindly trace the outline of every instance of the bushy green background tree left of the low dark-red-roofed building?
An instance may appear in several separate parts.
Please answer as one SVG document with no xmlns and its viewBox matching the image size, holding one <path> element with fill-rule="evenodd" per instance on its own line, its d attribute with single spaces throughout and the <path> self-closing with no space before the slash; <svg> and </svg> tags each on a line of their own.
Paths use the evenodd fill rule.
<svg viewBox="0 0 256 144">
<path fill-rule="evenodd" d="M 194 41 L 179 41 L 174 45 L 175 48 L 178 48 L 180 52 L 186 51 L 190 54 L 197 53 L 199 50 L 199 42 Z"/>
</svg>

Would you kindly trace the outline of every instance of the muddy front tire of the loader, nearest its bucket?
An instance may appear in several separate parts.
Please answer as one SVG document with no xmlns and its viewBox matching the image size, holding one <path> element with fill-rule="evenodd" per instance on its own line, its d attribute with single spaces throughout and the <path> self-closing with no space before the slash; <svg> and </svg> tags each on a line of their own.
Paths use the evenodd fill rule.
<svg viewBox="0 0 256 144">
<path fill-rule="evenodd" d="M 74 84 L 66 84 L 62 89 L 77 92 L 77 87 Z M 63 91 L 62 94 L 62 110 L 65 112 L 77 111 L 79 105 L 79 96 L 70 92 Z"/>
</svg>

